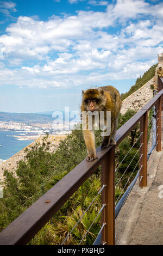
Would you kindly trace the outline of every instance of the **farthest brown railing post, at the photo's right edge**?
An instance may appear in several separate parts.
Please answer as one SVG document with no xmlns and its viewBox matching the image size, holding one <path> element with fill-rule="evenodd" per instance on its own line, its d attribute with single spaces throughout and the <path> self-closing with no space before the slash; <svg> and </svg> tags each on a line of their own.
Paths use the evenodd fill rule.
<svg viewBox="0 0 163 256">
<path fill-rule="evenodd" d="M 161 96 L 156 102 L 156 151 L 161 151 Z"/>
</svg>

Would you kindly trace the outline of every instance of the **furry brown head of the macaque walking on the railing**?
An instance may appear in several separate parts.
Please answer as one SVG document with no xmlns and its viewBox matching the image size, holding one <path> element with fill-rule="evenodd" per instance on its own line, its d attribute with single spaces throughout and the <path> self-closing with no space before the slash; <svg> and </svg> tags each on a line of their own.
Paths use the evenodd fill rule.
<svg viewBox="0 0 163 256">
<path fill-rule="evenodd" d="M 89 89 L 83 93 L 83 103 L 86 111 L 98 111 L 102 103 L 103 91 Z"/>
</svg>

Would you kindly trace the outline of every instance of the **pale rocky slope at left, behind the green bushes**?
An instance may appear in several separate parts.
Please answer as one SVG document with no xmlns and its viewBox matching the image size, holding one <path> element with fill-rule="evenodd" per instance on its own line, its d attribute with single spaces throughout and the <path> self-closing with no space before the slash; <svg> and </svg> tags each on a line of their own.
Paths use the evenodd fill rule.
<svg viewBox="0 0 163 256">
<path fill-rule="evenodd" d="M 43 142 L 47 145 L 48 151 L 50 153 L 54 153 L 55 150 L 58 148 L 59 142 L 62 139 L 65 139 L 66 135 L 49 135 L 48 138 L 43 140 L 43 137 L 46 136 L 40 136 L 38 139 L 36 139 L 34 142 L 30 143 L 26 148 L 31 149 L 36 143 L 42 144 Z M 24 160 L 24 157 L 26 156 L 26 148 L 23 148 L 21 151 L 16 153 L 14 156 L 11 156 L 8 160 L 0 163 L 0 179 L 3 180 L 3 172 L 4 170 L 10 170 L 14 171 L 17 167 L 17 164 L 20 160 Z"/>
</svg>

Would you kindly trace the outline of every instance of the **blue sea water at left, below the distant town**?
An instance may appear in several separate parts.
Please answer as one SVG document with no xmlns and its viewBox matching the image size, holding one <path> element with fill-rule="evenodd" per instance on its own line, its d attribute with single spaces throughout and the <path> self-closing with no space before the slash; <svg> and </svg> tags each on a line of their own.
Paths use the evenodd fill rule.
<svg viewBox="0 0 163 256">
<path fill-rule="evenodd" d="M 27 132 L 27 131 L 26 131 Z M 22 131 L 0 131 L 0 162 L 1 160 L 7 160 L 9 157 L 15 155 L 18 151 L 25 148 L 33 141 L 18 141 L 14 135 L 25 134 Z"/>
</svg>

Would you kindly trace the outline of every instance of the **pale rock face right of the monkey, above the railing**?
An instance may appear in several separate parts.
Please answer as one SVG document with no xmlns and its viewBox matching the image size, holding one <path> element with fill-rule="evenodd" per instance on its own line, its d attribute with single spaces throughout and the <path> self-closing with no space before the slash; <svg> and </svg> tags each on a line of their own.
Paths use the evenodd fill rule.
<svg viewBox="0 0 163 256">
<path fill-rule="evenodd" d="M 133 94 L 128 96 L 122 102 L 121 114 L 126 113 L 128 109 L 139 111 L 146 103 L 153 97 L 153 89 L 155 77 L 145 83 L 140 89 L 136 90 Z"/>
</svg>

